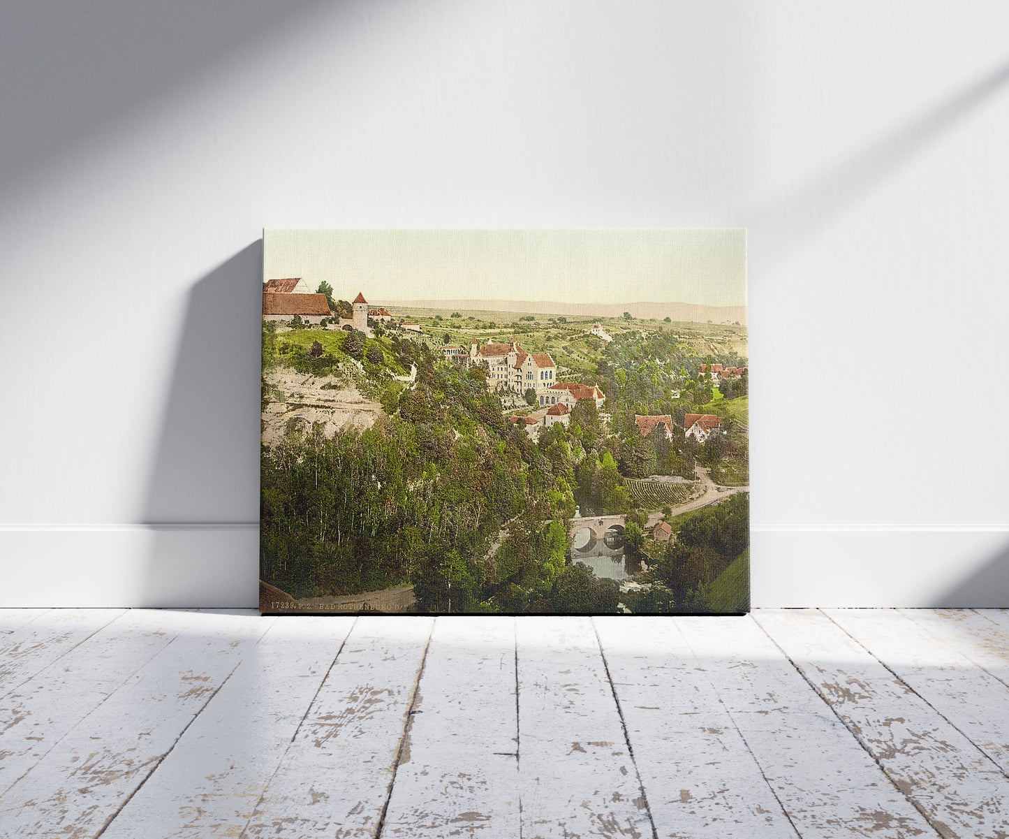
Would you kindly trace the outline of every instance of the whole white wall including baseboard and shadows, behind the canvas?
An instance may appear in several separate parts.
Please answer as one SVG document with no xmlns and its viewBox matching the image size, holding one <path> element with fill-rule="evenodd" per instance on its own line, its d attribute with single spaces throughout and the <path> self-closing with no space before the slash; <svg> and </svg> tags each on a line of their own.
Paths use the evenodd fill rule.
<svg viewBox="0 0 1009 839">
<path fill-rule="evenodd" d="M 257 240 L 298 225 L 748 226 L 755 605 L 1009 605 L 1007 30 L 7 4 L 0 605 L 254 604 Z"/>
</svg>

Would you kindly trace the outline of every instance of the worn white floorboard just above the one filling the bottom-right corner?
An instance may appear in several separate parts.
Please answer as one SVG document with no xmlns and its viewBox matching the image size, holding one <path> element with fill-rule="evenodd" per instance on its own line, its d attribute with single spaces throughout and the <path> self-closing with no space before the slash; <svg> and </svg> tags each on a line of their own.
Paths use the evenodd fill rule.
<svg viewBox="0 0 1009 839">
<path fill-rule="evenodd" d="M 895 610 L 824 614 L 1009 772 L 1009 688 Z"/>
</svg>

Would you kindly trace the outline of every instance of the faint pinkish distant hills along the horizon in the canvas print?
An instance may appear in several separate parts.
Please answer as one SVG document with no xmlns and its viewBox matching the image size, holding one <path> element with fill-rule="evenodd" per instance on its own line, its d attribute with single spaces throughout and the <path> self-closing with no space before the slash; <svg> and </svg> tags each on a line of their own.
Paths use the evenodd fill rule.
<svg viewBox="0 0 1009 839">
<path fill-rule="evenodd" d="M 669 318 L 694 323 L 734 323 L 746 326 L 746 306 L 700 306 L 695 303 L 557 303 L 533 300 L 377 300 L 374 306 L 405 306 L 411 309 L 455 309 L 456 311 L 521 312 L 534 315 Z"/>
</svg>

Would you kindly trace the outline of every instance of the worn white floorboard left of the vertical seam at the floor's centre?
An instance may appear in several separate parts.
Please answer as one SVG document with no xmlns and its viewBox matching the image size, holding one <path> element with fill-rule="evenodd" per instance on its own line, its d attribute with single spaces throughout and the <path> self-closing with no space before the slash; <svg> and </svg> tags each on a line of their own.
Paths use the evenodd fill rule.
<svg viewBox="0 0 1009 839">
<path fill-rule="evenodd" d="M 515 618 L 441 617 L 382 836 L 518 837 Z"/>
</svg>

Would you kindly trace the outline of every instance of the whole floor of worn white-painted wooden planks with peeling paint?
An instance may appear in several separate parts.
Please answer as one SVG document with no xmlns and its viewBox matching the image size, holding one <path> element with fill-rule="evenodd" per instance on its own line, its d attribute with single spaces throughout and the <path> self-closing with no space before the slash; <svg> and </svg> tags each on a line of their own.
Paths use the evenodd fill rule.
<svg viewBox="0 0 1009 839">
<path fill-rule="evenodd" d="M 1009 612 L 0 611 L 3 837 L 1007 837 Z"/>
</svg>

